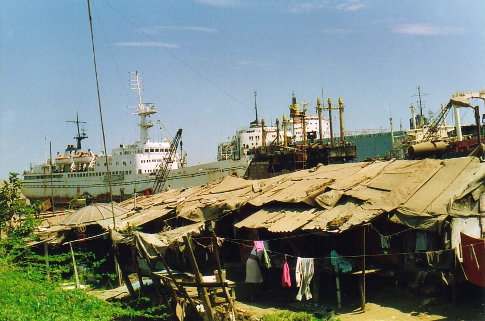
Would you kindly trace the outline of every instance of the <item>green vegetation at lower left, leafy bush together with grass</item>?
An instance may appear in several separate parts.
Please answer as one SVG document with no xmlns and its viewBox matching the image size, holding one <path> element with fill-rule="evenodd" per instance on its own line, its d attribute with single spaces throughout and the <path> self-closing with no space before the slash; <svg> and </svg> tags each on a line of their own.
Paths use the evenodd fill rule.
<svg viewBox="0 0 485 321">
<path fill-rule="evenodd" d="M 166 320 L 164 306 L 153 307 L 159 298 L 135 299 L 130 305 L 110 304 L 83 290 L 64 290 L 57 282 L 47 282 L 46 258 L 49 269 L 56 270 L 51 281 L 61 281 L 62 274 L 70 272 L 70 253 L 36 253 L 27 241 L 39 221 L 39 204 L 29 206 L 20 200 L 18 174 L 11 173 L 0 188 L 0 320 L 9 321 L 91 321 L 91 320 Z M 14 217 L 20 218 L 15 225 Z M 27 239 L 28 238 L 28 239 Z M 79 262 L 99 267 L 106 257 L 89 262 L 94 255 L 76 253 Z M 69 273 L 71 274 L 71 273 Z M 106 274 L 106 273 L 105 273 Z M 72 275 L 72 274 L 71 274 Z M 152 301 L 155 300 L 155 301 Z"/>
</svg>

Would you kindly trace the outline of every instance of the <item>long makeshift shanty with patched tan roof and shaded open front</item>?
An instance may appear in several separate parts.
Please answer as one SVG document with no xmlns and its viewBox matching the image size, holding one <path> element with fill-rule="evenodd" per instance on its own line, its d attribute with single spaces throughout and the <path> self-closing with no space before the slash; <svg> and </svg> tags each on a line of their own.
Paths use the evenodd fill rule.
<svg viewBox="0 0 485 321">
<path fill-rule="evenodd" d="M 424 289 L 426 280 L 454 289 L 483 272 L 476 267 L 485 266 L 484 179 L 485 164 L 476 157 L 322 165 L 262 180 L 223 177 L 124 202 L 133 210 L 116 228 L 142 226 L 159 232 L 154 235 L 163 243 L 166 231 L 197 224 L 203 250 L 208 243 L 200 224 L 211 223 L 225 239 L 223 261 L 243 264 L 253 241 L 267 241 L 273 273 L 285 257 L 290 270 L 301 258 L 313 259 L 314 299 L 319 279 L 335 278 L 339 289 L 340 277 L 354 275 L 364 305 L 369 274 L 415 289 Z M 478 241 L 464 245 L 463 235 Z M 475 270 L 467 270 L 467 262 L 476 263 Z"/>
</svg>

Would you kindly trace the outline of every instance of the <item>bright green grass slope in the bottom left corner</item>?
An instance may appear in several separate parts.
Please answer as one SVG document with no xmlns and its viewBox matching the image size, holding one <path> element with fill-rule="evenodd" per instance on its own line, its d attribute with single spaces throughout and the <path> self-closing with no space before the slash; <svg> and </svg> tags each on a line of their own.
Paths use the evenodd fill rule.
<svg viewBox="0 0 485 321">
<path fill-rule="evenodd" d="M 25 273 L 0 267 L 0 320 L 113 320 L 129 311 L 82 290 L 63 290 L 56 283 L 33 282 Z"/>
</svg>

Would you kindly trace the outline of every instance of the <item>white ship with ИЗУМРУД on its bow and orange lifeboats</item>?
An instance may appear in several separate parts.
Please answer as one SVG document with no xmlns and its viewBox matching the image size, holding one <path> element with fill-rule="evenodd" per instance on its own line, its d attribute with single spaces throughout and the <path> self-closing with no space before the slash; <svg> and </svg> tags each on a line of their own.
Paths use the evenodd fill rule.
<svg viewBox="0 0 485 321">
<path fill-rule="evenodd" d="M 161 163 L 169 156 L 170 143 L 166 140 L 150 140 L 148 129 L 154 124 L 148 121 L 147 117 L 156 111 L 153 104 L 142 103 L 141 73 L 132 74 L 132 89 L 138 91 L 139 98 L 138 106 L 133 108 L 137 108 L 134 114 L 141 117 L 138 124 L 140 140 L 130 145 L 120 144 L 119 147 L 112 149 L 112 155 L 108 157 L 102 153 L 96 155 L 91 150 L 82 152 L 81 140 L 87 136 L 79 131 L 80 122 L 76 120 L 77 146 L 68 145 L 65 155 L 58 155 L 55 162 L 47 161 L 24 171 L 22 193 L 26 197 L 44 201 L 53 195 L 57 203 L 67 203 L 81 195 L 106 200 L 110 191 L 108 180 L 111 182 L 115 199 L 124 199 L 134 192 L 146 192 L 153 187 L 157 168 L 160 168 Z M 226 175 L 243 177 L 249 162 L 249 158 L 243 157 L 240 160 L 222 160 L 183 167 L 180 155 L 176 154 L 165 187 L 173 189 L 198 186 Z"/>
</svg>

